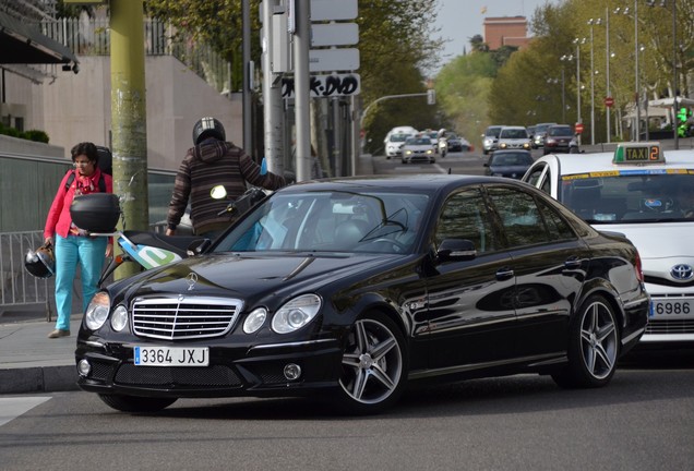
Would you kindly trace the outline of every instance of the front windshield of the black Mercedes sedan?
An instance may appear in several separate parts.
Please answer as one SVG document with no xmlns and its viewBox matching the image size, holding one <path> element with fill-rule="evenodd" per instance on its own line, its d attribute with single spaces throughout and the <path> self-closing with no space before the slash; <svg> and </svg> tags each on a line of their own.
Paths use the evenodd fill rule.
<svg viewBox="0 0 694 471">
<path fill-rule="evenodd" d="M 409 253 L 428 201 L 417 193 L 275 193 L 215 252 Z"/>
</svg>

